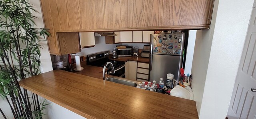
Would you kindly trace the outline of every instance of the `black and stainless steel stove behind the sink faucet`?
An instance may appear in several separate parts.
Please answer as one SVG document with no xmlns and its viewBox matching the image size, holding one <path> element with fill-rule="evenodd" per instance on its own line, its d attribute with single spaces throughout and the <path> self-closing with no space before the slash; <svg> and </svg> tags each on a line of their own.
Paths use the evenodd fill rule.
<svg viewBox="0 0 256 119">
<path fill-rule="evenodd" d="M 125 62 L 108 59 L 109 57 L 108 53 L 109 53 L 108 51 L 102 51 L 102 52 L 87 55 L 86 56 L 87 65 L 98 66 L 103 68 L 106 62 L 112 62 L 114 69 L 120 68 L 120 70 L 117 70 L 115 74 L 110 74 L 111 68 L 107 67 L 108 68 L 107 74 L 125 78 Z"/>
</svg>

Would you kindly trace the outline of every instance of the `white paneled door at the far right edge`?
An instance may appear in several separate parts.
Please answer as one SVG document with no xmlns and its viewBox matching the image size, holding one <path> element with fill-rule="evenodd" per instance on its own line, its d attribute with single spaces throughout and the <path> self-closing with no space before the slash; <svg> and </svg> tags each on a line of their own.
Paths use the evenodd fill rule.
<svg viewBox="0 0 256 119">
<path fill-rule="evenodd" d="M 256 0 L 255 0 L 256 1 Z M 228 108 L 228 119 L 256 119 L 256 4 Z M 255 90 L 255 91 L 254 91 Z"/>
</svg>

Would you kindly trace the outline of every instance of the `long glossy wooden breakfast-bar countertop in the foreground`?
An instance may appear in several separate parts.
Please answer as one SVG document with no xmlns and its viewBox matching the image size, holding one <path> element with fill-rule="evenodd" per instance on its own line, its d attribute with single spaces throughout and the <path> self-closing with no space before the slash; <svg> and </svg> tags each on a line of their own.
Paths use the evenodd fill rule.
<svg viewBox="0 0 256 119">
<path fill-rule="evenodd" d="M 19 83 L 88 119 L 198 119 L 195 101 L 63 70 L 32 76 Z"/>
</svg>

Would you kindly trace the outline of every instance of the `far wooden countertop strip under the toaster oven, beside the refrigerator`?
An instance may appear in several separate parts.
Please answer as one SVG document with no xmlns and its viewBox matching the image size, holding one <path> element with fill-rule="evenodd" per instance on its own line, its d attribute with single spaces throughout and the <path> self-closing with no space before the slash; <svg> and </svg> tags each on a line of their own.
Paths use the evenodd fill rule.
<svg viewBox="0 0 256 119">
<path fill-rule="evenodd" d="M 131 61 L 137 61 L 137 62 L 146 62 L 146 63 L 149 63 L 149 58 L 146 58 L 146 57 L 136 57 L 136 56 L 132 56 L 132 57 L 118 57 L 116 59 L 113 59 L 112 58 L 112 54 L 110 54 L 109 58 L 110 60 L 118 60 L 118 61 L 124 61 L 124 62 L 127 62 L 128 60 L 131 60 Z"/>
</svg>

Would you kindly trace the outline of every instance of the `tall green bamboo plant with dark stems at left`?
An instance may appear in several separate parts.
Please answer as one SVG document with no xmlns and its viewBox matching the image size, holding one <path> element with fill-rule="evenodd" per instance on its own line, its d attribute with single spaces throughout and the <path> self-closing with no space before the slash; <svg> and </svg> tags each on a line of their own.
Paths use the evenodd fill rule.
<svg viewBox="0 0 256 119">
<path fill-rule="evenodd" d="M 32 11 L 27 0 L 0 0 L 0 96 L 8 102 L 15 119 L 42 119 L 47 105 L 18 83 L 40 74 L 39 37 L 49 36 L 47 29 L 34 28 Z M 7 119 L 3 108 L 0 113 Z"/>
</svg>

